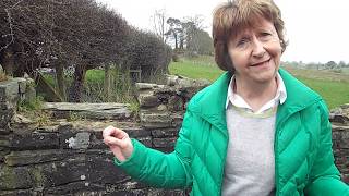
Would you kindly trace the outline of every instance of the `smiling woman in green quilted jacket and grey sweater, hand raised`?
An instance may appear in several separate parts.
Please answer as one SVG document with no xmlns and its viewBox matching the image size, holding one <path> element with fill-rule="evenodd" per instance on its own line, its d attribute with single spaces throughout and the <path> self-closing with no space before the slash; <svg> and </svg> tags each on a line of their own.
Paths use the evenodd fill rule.
<svg viewBox="0 0 349 196">
<path fill-rule="evenodd" d="M 272 0 L 214 13 L 215 58 L 228 71 L 189 103 L 172 154 L 104 130 L 115 162 L 158 187 L 191 195 L 349 195 L 332 152 L 323 99 L 279 69 L 284 22 Z"/>
</svg>

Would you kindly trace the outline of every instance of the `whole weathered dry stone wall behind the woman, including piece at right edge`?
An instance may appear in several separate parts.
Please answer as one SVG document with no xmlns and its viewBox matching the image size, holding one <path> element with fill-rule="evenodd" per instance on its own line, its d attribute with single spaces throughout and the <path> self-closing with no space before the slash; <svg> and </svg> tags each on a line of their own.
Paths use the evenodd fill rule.
<svg viewBox="0 0 349 196">
<path fill-rule="evenodd" d="M 46 103 L 55 120 L 45 124 L 14 112 L 27 91 L 22 82 L 0 83 L 0 195 L 188 195 L 152 188 L 118 170 L 101 131 L 111 124 L 146 146 L 172 151 L 188 100 L 207 82 L 172 76 L 167 85 L 137 84 L 139 113 L 119 103 Z M 336 163 L 349 183 L 346 108 L 330 121 Z"/>
</svg>

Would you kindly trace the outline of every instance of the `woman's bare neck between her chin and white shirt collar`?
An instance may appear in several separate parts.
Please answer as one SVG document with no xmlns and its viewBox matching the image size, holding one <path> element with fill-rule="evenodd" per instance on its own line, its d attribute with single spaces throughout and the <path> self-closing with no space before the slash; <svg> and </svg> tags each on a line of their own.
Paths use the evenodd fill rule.
<svg viewBox="0 0 349 196">
<path fill-rule="evenodd" d="M 241 96 L 253 111 L 257 111 L 263 105 L 272 100 L 277 91 L 276 77 L 266 83 L 241 79 L 238 75 L 234 79 L 233 91 Z"/>
</svg>

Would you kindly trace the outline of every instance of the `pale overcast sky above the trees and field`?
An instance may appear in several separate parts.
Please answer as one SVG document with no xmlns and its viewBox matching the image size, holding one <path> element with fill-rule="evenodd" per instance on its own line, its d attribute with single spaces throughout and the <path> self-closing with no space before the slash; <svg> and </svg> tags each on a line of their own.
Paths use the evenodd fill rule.
<svg viewBox="0 0 349 196">
<path fill-rule="evenodd" d="M 212 30 L 212 12 L 225 0 L 97 0 L 120 13 L 129 24 L 152 30 L 151 16 L 165 9 L 169 16 L 203 15 Z M 289 46 L 284 61 L 349 62 L 349 1 L 275 0 L 286 23 Z"/>
</svg>

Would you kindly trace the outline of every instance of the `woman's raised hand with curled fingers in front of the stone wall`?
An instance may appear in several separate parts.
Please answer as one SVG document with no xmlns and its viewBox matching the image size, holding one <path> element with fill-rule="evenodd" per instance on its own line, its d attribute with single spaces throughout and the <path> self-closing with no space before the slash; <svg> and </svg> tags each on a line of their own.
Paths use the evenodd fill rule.
<svg viewBox="0 0 349 196">
<path fill-rule="evenodd" d="M 103 131 L 103 138 L 119 161 L 124 161 L 131 156 L 133 146 L 124 131 L 108 126 Z"/>
</svg>

